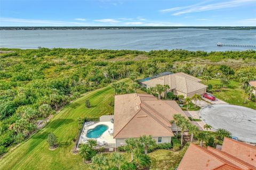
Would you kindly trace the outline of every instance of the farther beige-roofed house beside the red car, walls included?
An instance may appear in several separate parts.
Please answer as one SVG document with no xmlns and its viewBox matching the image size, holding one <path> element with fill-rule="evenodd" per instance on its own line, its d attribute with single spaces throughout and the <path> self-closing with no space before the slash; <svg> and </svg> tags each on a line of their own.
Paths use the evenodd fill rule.
<svg viewBox="0 0 256 170">
<path fill-rule="evenodd" d="M 200 83 L 201 79 L 195 78 L 186 73 L 164 72 L 155 77 L 138 80 L 142 87 L 155 87 L 156 84 L 169 85 L 174 95 L 192 97 L 194 94 L 203 95 L 207 86 Z"/>
</svg>

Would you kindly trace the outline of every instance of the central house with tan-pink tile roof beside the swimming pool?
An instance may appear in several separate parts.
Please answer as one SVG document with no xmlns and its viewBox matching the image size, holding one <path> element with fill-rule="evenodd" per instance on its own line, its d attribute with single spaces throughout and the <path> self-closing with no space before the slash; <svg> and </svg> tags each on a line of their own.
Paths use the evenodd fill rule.
<svg viewBox="0 0 256 170">
<path fill-rule="evenodd" d="M 127 138 L 151 135 L 157 143 L 171 142 L 176 130 L 174 114 L 186 114 L 173 100 L 158 100 L 148 94 L 115 96 L 114 134 L 116 147 L 125 145 Z"/>
</svg>

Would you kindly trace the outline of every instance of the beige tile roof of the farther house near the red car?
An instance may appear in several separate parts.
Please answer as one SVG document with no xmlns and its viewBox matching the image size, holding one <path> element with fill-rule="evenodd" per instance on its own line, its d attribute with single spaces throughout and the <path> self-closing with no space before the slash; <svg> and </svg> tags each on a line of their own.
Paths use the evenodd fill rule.
<svg viewBox="0 0 256 170">
<path fill-rule="evenodd" d="M 178 91 L 184 92 L 185 94 L 189 94 L 191 92 L 205 89 L 207 87 L 200 83 L 200 81 L 201 79 L 180 72 L 163 75 L 162 77 L 143 81 L 142 83 L 147 84 L 149 87 L 155 87 L 156 84 L 168 84 L 171 89 L 176 89 Z"/>
</svg>

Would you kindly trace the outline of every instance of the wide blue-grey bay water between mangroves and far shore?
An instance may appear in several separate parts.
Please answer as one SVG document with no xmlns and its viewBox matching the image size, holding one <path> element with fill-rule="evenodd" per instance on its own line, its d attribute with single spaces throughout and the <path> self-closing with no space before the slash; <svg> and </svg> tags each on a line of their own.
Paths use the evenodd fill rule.
<svg viewBox="0 0 256 170">
<path fill-rule="evenodd" d="M 256 50 L 218 47 L 217 43 L 256 45 L 256 30 L 0 30 L 0 47 L 7 48 Z"/>
</svg>

